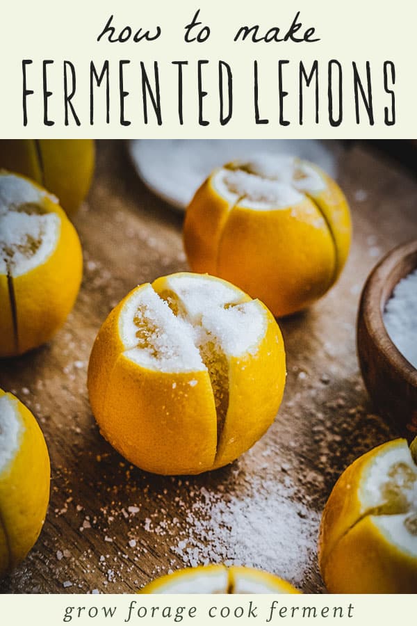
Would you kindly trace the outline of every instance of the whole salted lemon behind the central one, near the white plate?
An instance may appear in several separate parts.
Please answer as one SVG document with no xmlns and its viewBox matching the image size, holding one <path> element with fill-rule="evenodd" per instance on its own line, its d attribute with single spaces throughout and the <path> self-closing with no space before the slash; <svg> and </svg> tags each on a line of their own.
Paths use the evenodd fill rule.
<svg viewBox="0 0 417 626">
<path fill-rule="evenodd" d="M 350 211 L 325 172 L 292 157 L 215 170 L 191 200 L 184 245 L 193 271 L 230 280 L 275 316 L 332 287 L 350 247 Z"/>
</svg>

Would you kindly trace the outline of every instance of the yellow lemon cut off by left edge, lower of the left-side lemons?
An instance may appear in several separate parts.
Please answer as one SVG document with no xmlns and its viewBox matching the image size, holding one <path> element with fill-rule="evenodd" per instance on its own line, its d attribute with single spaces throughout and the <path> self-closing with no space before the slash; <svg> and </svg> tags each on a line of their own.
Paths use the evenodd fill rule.
<svg viewBox="0 0 417 626">
<path fill-rule="evenodd" d="M 35 545 L 49 501 L 49 455 L 32 413 L 0 390 L 0 575 Z"/>
</svg>

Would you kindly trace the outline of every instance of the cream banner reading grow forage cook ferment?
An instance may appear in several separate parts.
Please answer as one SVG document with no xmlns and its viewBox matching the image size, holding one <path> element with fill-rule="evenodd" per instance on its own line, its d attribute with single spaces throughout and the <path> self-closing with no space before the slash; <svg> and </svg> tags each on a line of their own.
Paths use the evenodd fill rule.
<svg viewBox="0 0 417 626">
<path fill-rule="evenodd" d="M 24 599 L 24 601 L 22 601 Z M 394 624 L 416 595 L 3 595 L 3 624 L 238 626 Z"/>
</svg>

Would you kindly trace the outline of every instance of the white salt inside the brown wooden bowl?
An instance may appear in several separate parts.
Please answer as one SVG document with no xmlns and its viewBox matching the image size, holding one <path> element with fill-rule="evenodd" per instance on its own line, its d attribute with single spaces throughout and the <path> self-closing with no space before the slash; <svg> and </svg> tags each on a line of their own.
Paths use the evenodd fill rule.
<svg viewBox="0 0 417 626">
<path fill-rule="evenodd" d="M 386 303 L 384 324 L 400 353 L 417 367 L 417 269 L 398 282 Z"/>
</svg>

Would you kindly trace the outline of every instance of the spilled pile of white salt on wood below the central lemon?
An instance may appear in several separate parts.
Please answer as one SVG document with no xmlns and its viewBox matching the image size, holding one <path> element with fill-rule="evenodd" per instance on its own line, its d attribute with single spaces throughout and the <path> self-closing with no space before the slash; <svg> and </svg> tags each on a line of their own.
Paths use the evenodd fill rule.
<svg viewBox="0 0 417 626">
<path fill-rule="evenodd" d="M 185 525 L 153 519 L 145 530 L 174 535 L 170 549 L 183 565 L 246 565 L 304 586 L 316 570 L 320 515 L 300 501 L 288 475 L 248 478 L 227 493 L 200 487 Z"/>
</svg>

